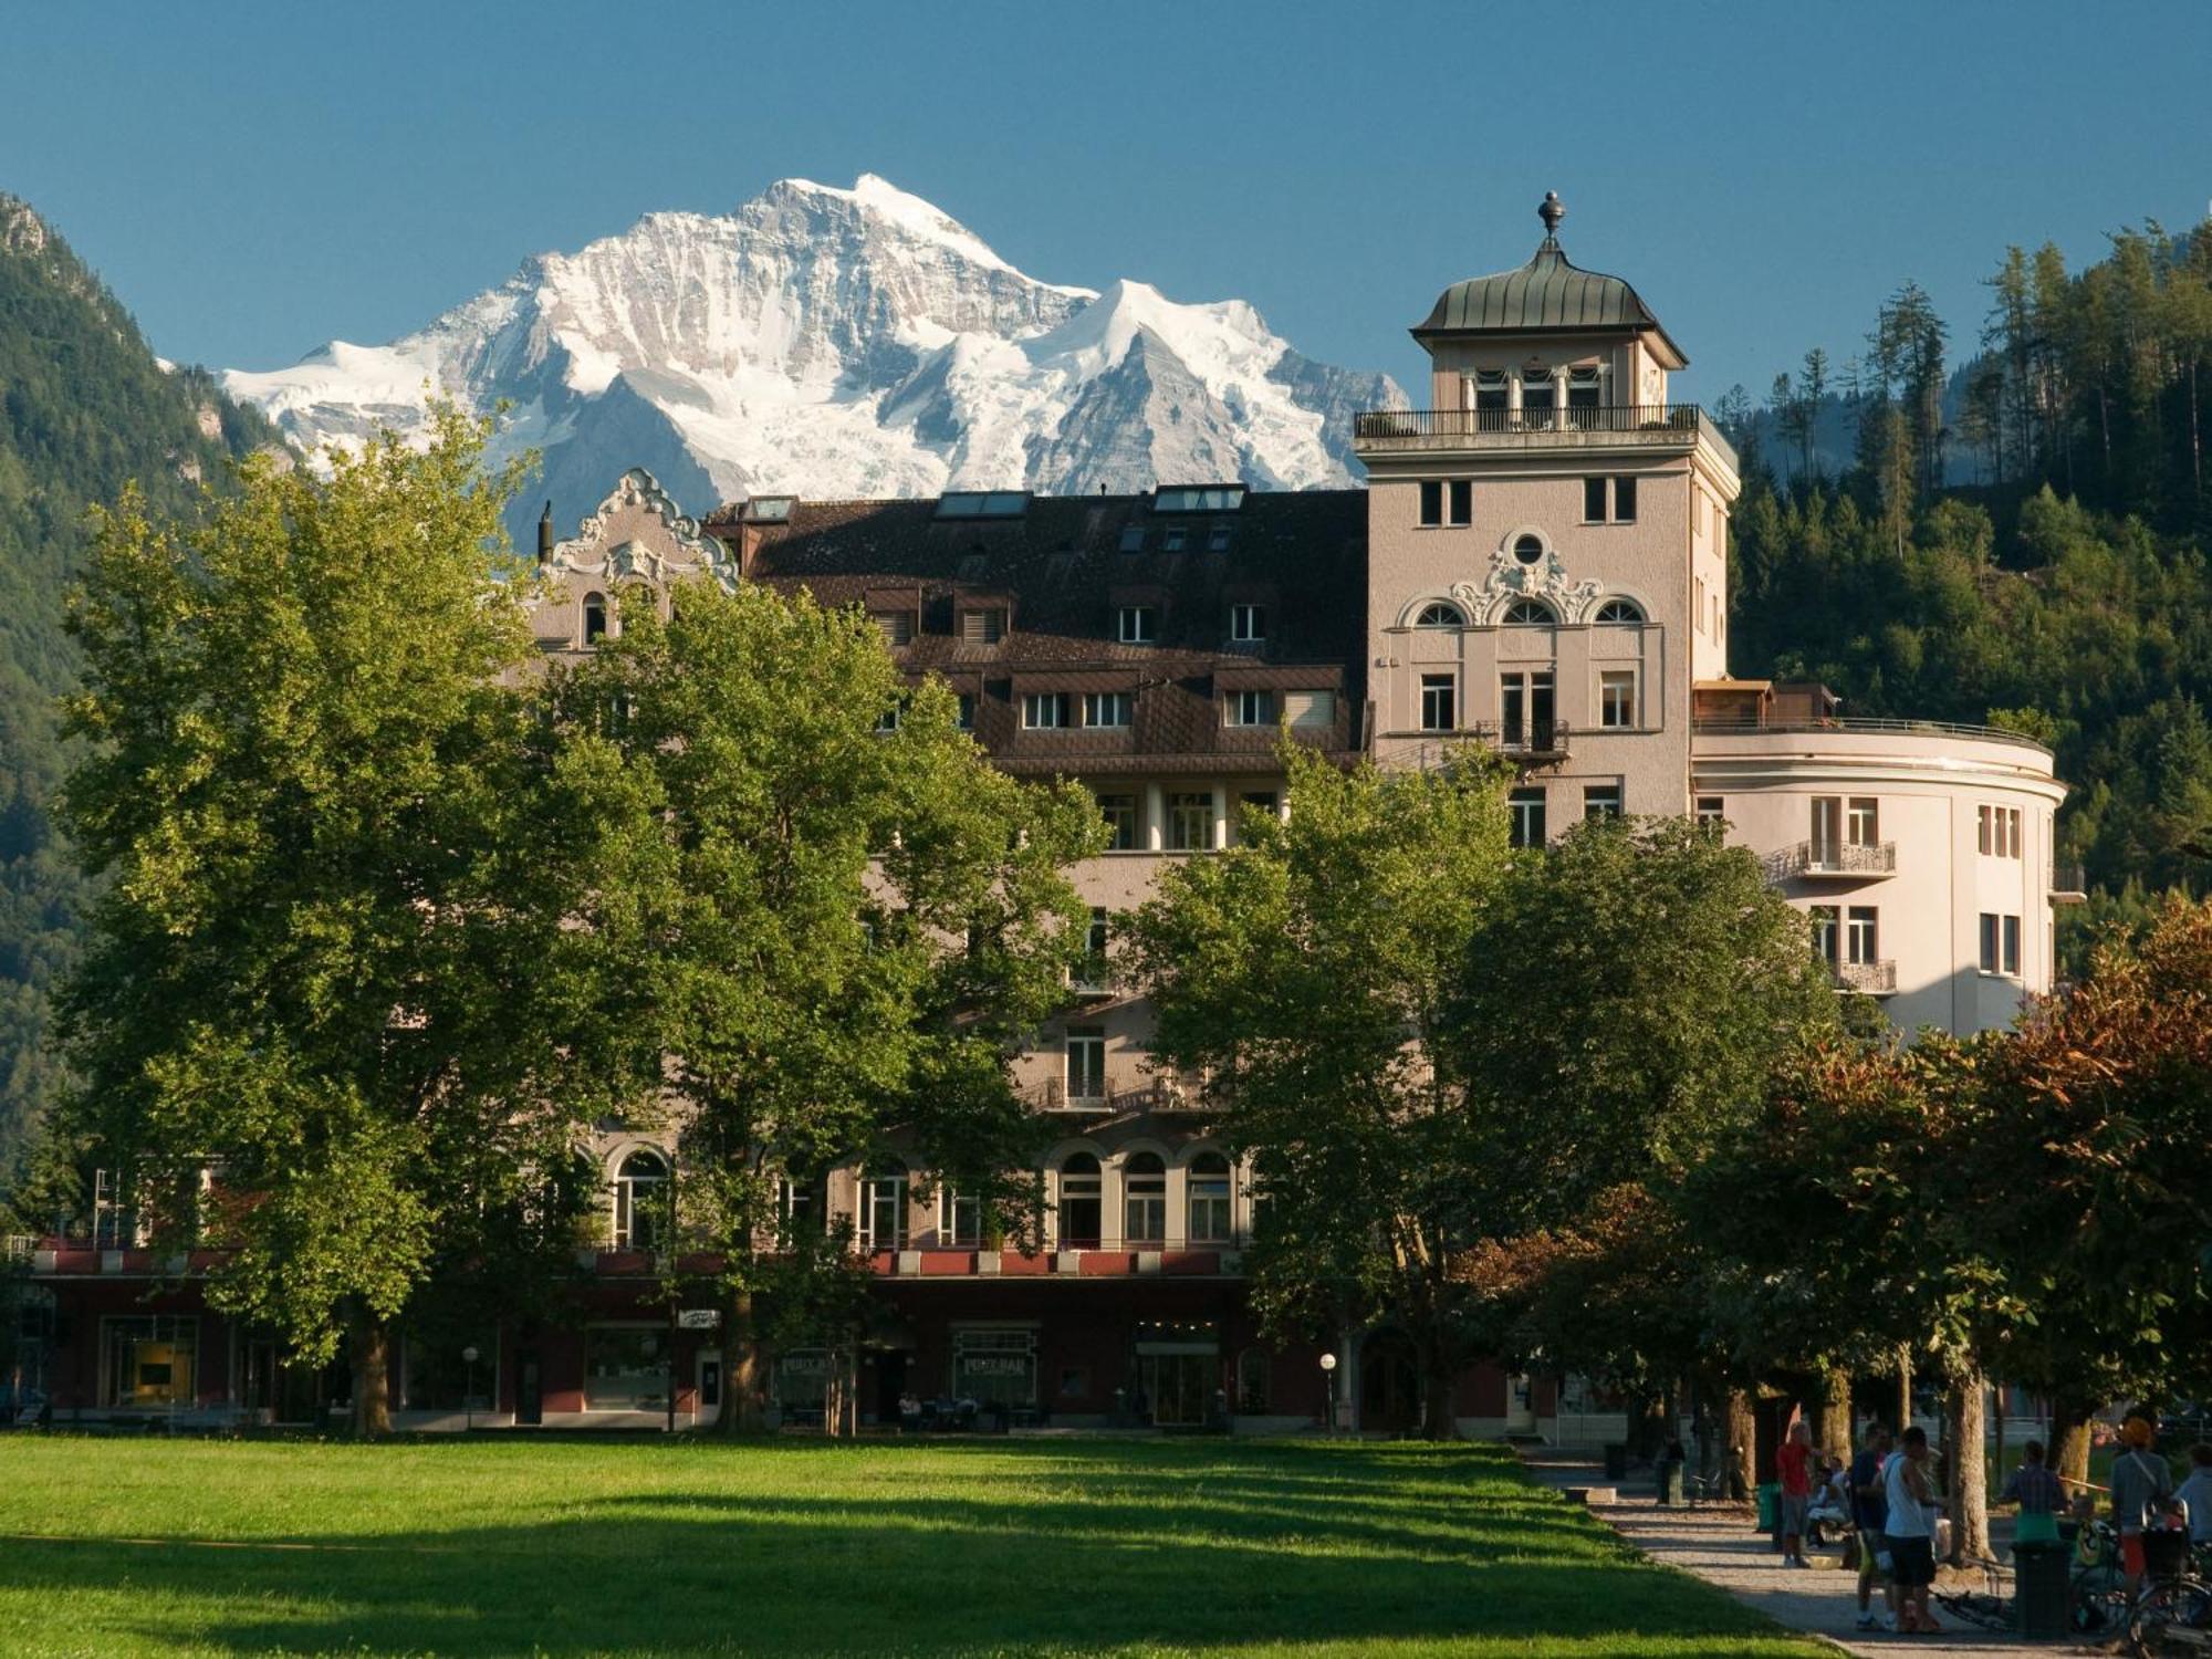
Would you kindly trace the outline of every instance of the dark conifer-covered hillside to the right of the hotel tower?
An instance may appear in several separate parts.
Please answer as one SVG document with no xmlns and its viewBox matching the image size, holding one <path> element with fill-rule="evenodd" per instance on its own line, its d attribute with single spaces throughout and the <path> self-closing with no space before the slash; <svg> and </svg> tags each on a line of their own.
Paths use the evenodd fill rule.
<svg viewBox="0 0 2212 1659">
<path fill-rule="evenodd" d="M 2075 785 L 2062 860 L 2097 889 L 2077 918 L 2135 914 L 2212 885 L 2212 223 L 2079 272 L 2013 248 L 1989 288 L 1966 354 L 1907 283 L 1863 356 L 1807 354 L 1763 411 L 1732 396 L 1732 666 L 2044 737 Z M 1829 476 L 1836 398 L 1856 458 Z M 1960 451 L 1989 482 L 1942 487 Z"/>
</svg>

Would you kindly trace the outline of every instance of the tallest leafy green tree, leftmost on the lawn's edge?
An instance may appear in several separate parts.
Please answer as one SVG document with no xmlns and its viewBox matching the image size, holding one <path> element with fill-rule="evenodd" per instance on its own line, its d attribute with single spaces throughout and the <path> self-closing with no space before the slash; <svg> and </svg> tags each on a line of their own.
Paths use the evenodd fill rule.
<svg viewBox="0 0 2212 1659">
<path fill-rule="evenodd" d="M 349 1336 L 369 1433 L 440 1254 L 560 1241 L 588 1108 L 487 431 L 447 409 L 327 480 L 257 458 L 184 529 L 126 495 L 71 613 L 64 805 L 106 887 L 62 1137 L 131 1172 L 159 1250 L 221 1252 L 210 1305 L 305 1363 Z"/>
</svg>

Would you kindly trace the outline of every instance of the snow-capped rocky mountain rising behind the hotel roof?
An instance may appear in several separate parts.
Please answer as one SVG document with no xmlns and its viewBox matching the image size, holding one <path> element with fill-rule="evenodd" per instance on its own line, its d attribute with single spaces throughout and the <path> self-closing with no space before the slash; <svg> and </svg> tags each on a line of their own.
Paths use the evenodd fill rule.
<svg viewBox="0 0 2212 1659">
<path fill-rule="evenodd" d="M 526 515 L 551 493 L 562 524 L 639 465 L 692 511 L 763 491 L 1345 484 L 1352 414 L 1405 403 L 1243 301 L 1024 276 L 874 175 L 785 179 L 730 217 L 655 212 L 389 345 L 334 341 L 223 385 L 310 449 L 411 429 L 425 385 L 507 398 L 502 449 L 544 451 Z"/>
</svg>

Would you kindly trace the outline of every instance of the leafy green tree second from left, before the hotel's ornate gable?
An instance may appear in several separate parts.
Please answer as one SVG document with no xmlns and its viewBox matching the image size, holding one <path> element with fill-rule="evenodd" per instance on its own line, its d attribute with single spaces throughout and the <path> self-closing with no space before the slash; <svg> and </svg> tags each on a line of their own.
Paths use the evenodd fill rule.
<svg viewBox="0 0 2212 1659">
<path fill-rule="evenodd" d="M 1009 1053 L 1066 998 L 1104 843 L 1075 785 L 998 772 L 951 692 L 907 692 L 860 613 L 692 582 L 553 686 L 562 816 L 599 847 L 575 909 L 630 1113 L 679 1137 L 679 1225 L 726 1312 L 723 1429 L 765 1343 L 860 1314 L 810 1192 L 891 1148 L 1035 1239 L 1035 1119 Z M 787 1188 L 779 1183 L 790 1183 Z"/>
</svg>

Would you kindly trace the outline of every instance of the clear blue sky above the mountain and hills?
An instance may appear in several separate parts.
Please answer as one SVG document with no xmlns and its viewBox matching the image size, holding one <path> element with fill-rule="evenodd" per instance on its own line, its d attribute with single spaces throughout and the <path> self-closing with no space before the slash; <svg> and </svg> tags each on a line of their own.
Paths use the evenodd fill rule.
<svg viewBox="0 0 2212 1659">
<path fill-rule="evenodd" d="M 1907 276 L 1966 341 L 2006 243 L 2194 223 L 2208 88 L 2203 0 L 0 0 L 0 190 L 179 361 L 385 341 L 533 250 L 867 170 L 1035 276 L 1243 296 L 1411 389 L 1405 327 L 1555 188 L 1712 398 L 1856 352 Z"/>
</svg>

